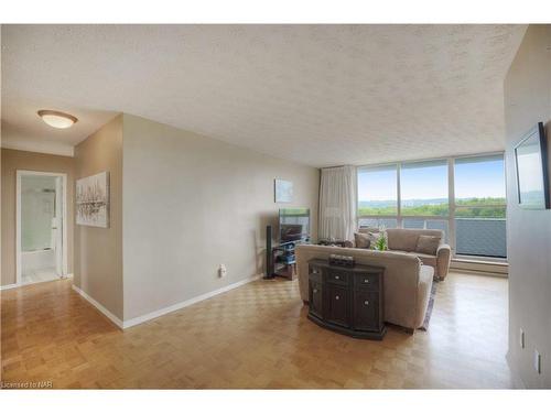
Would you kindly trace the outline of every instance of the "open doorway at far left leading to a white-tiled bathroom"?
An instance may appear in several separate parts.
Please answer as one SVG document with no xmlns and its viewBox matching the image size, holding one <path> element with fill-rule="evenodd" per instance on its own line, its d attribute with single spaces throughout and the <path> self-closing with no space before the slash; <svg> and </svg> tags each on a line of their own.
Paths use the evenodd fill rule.
<svg viewBox="0 0 551 413">
<path fill-rule="evenodd" d="M 67 276 L 67 175 L 17 173 L 17 283 Z"/>
</svg>

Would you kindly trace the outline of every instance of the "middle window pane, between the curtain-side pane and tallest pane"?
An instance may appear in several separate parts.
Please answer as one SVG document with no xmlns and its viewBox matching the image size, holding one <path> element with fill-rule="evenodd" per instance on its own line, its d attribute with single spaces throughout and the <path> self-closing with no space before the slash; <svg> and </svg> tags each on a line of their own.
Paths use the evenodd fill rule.
<svg viewBox="0 0 551 413">
<path fill-rule="evenodd" d="M 447 161 L 402 164 L 400 193 L 401 215 L 447 217 Z"/>
</svg>

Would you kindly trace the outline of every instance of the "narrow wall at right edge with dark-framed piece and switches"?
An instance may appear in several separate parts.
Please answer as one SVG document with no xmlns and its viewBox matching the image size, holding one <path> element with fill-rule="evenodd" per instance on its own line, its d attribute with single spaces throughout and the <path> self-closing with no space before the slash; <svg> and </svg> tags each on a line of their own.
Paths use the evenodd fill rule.
<svg viewBox="0 0 551 413">
<path fill-rule="evenodd" d="M 551 210 L 518 206 L 514 148 L 537 122 L 551 144 L 551 25 L 530 25 L 505 80 L 509 365 L 529 388 L 551 388 Z M 520 348 L 519 330 L 526 334 Z M 533 351 L 542 355 L 542 373 Z"/>
</svg>

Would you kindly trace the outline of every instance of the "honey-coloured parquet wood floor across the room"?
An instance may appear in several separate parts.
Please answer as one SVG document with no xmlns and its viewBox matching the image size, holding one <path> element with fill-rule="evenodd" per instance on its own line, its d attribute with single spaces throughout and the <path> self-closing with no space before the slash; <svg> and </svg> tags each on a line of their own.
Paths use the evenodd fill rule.
<svg viewBox="0 0 551 413">
<path fill-rule="evenodd" d="M 257 281 L 125 332 L 53 281 L 1 293 L 4 382 L 54 388 L 511 388 L 507 280 L 453 273 L 428 332 L 359 340 L 306 319 L 296 281 Z"/>
</svg>

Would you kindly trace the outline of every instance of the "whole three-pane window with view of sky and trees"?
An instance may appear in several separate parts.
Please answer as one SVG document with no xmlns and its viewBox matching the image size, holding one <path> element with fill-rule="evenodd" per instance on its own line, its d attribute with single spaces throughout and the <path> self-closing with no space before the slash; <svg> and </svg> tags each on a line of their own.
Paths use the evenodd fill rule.
<svg viewBox="0 0 551 413">
<path fill-rule="evenodd" d="M 505 210 L 503 154 L 358 169 L 360 227 L 441 229 L 455 254 L 505 258 Z"/>
</svg>

